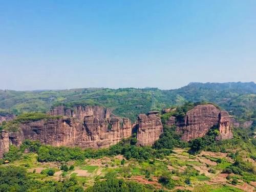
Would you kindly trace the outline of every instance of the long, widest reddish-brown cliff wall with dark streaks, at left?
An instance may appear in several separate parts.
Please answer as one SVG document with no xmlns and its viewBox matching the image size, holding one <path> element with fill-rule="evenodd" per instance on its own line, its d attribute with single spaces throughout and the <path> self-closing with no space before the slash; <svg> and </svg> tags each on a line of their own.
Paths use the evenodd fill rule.
<svg viewBox="0 0 256 192">
<path fill-rule="evenodd" d="M 73 110 L 59 106 L 50 114 L 62 117 L 21 123 L 17 132 L 3 133 L 1 149 L 3 143 L 19 146 L 25 139 L 53 146 L 108 147 L 132 135 L 129 119 L 111 117 L 110 111 L 101 106 L 78 106 Z"/>
</svg>

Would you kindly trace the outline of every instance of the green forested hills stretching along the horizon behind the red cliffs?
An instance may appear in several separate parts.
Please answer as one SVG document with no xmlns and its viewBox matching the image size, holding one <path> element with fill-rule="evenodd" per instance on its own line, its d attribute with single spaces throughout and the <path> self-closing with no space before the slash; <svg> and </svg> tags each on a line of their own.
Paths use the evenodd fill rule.
<svg viewBox="0 0 256 192">
<path fill-rule="evenodd" d="M 50 91 L 0 91 L 0 113 L 46 112 L 52 106 L 102 105 L 121 117 L 135 121 L 140 113 L 151 110 L 152 93 L 155 109 L 161 110 L 186 101 L 214 102 L 240 120 L 256 117 L 256 84 L 189 83 L 176 90 L 87 88 Z"/>
</svg>

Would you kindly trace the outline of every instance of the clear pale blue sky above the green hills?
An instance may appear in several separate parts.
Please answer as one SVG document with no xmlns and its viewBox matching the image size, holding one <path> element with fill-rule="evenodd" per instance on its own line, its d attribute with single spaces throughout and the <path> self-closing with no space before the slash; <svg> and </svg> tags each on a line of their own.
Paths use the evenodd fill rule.
<svg viewBox="0 0 256 192">
<path fill-rule="evenodd" d="M 0 89 L 256 81 L 256 1 L 2 1 Z"/>
</svg>

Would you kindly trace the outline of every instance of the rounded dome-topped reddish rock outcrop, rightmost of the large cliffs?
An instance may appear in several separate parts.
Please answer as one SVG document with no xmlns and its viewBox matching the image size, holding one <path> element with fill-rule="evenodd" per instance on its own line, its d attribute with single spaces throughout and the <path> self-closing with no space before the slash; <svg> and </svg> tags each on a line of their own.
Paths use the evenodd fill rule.
<svg viewBox="0 0 256 192">
<path fill-rule="evenodd" d="M 169 119 L 170 124 L 175 120 Z M 181 139 L 190 141 L 203 137 L 211 127 L 218 126 L 220 135 L 216 139 L 231 139 L 231 123 L 226 111 L 220 111 L 212 104 L 197 105 L 186 113 L 181 122 L 176 122 L 177 131 L 182 134 Z"/>
</svg>

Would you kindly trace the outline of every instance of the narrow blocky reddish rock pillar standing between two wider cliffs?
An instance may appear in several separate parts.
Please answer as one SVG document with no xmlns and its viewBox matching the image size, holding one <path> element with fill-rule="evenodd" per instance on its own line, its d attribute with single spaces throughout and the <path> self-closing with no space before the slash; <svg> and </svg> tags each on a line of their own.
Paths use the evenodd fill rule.
<svg viewBox="0 0 256 192">
<path fill-rule="evenodd" d="M 161 119 L 154 114 L 140 114 L 138 117 L 138 145 L 153 145 L 163 132 Z"/>
</svg>

